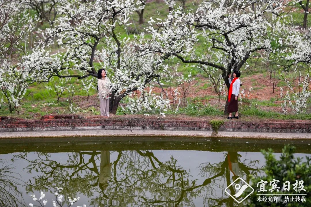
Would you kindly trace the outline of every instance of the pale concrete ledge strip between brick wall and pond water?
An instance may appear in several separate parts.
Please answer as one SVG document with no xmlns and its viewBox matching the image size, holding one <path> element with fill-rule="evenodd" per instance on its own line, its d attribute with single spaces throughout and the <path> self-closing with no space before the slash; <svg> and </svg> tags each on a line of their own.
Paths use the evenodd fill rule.
<svg viewBox="0 0 311 207">
<path fill-rule="evenodd" d="M 172 131 L 172 130 L 78 130 L 78 131 L 33 131 L 33 132 L 2 132 L 0 138 L 25 137 L 108 137 L 108 136 L 156 136 L 156 137 L 236 137 L 262 139 L 311 139 L 310 133 L 253 133 L 253 132 L 219 132 L 212 131 Z M 104 139 L 104 138 L 103 138 Z"/>
</svg>

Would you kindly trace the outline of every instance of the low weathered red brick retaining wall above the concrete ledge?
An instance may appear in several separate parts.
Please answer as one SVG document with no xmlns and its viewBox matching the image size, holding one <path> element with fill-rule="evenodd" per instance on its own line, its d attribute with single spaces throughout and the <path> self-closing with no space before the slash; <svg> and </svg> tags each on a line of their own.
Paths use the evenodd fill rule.
<svg viewBox="0 0 311 207">
<path fill-rule="evenodd" d="M 209 120 L 173 118 L 84 118 L 79 115 L 45 115 L 41 119 L 26 120 L 0 117 L 0 132 L 53 130 L 201 130 L 212 131 Z M 219 131 L 311 133 L 311 120 L 228 120 Z"/>
</svg>

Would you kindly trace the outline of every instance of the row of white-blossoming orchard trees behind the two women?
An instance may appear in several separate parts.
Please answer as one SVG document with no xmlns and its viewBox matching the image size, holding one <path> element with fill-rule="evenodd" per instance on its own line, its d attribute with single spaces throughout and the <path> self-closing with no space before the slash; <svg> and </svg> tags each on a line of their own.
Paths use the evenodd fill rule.
<svg viewBox="0 0 311 207">
<path fill-rule="evenodd" d="M 182 0 L 164 2 L 169 14 L 163 20 L 151 18 L 144 33 L 124 36 L 133 13 L 144 21 L 148 1 L 1 0 L 1 102 L 18 111 L 30 84 L 55 77 L 96 83 L 104 68 L 112 81 L 110 113 L 125 97 L 132 113 L 152 108 L 163 113 L 170 107 L 163 85 L 174 78 L 168 60 L 216 70 L 229 89 L 229 74 L 268 55 L 288 83 L 285 101 L 297 113 L 307 106 L 311 33 L 286 12 L 297 2 L 204 0 L 195 9 L 185 9 Z M 298 3 L 307 16 L 309 2 Z M 45 29 L 38 26 L 43 22 L 49 23 Z M 301 78 L 299 92 L 286 79 L 291 72 Z M 154 85 L 161 95 L 152 93 Z"/>
</svg>

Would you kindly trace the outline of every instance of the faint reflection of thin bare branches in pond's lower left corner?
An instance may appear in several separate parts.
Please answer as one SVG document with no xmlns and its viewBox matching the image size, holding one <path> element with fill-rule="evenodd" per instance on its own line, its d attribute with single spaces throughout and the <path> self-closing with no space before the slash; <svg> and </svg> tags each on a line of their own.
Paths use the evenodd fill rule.
<svg viewBox="0 0 311 207">
<path fill-rule="evenodd" d="M 18 190 L 18 173 L 13 173 L 14 168 L 7 164 L 7 160 L 0 159 L 0 206 L 16 207 L 26 206 L 21 192 Z"/>
</svg>

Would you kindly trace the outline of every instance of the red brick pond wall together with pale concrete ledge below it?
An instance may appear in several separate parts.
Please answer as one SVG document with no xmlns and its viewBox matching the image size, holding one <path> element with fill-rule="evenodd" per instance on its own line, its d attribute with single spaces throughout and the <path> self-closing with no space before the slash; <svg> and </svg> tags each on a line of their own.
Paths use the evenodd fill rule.
<svg viewBox="0 0 311 207">
<path fill-rule="evenodd" d="M 245 121 L 195 117 L 164 118 L 145 116 L 114 116 L 104 118 L 78 115 L 46 115 L 26 120 L 0 117 L 1 137 L 75 137 L 75 136 L 193 136 L 193 137 L 255 137 L 311 138 L 311 120 Z M 218 123 L 218 134 L 211 123 Z M 216 124 L 217 125 L 217 124 Z M 214 126 L 215 127 L 215 126 Z"/>
</svg>

